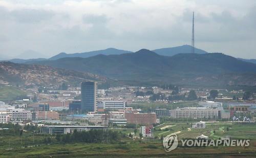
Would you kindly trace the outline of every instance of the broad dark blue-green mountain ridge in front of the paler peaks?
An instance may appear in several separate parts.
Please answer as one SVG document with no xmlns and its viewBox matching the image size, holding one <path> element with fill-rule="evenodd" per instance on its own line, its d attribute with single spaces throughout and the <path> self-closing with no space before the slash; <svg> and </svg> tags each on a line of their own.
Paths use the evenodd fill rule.
<svg viewBox="0 0 256 158">
<path fill-rule="evenodd" d="M 89 72 L 118 80 L 188 85 L 256 85 L 256 64 L 221 53 L 161 56 L 142 49 L 121 55 L 32 61 L 62 69 Z"/>
</svg>

